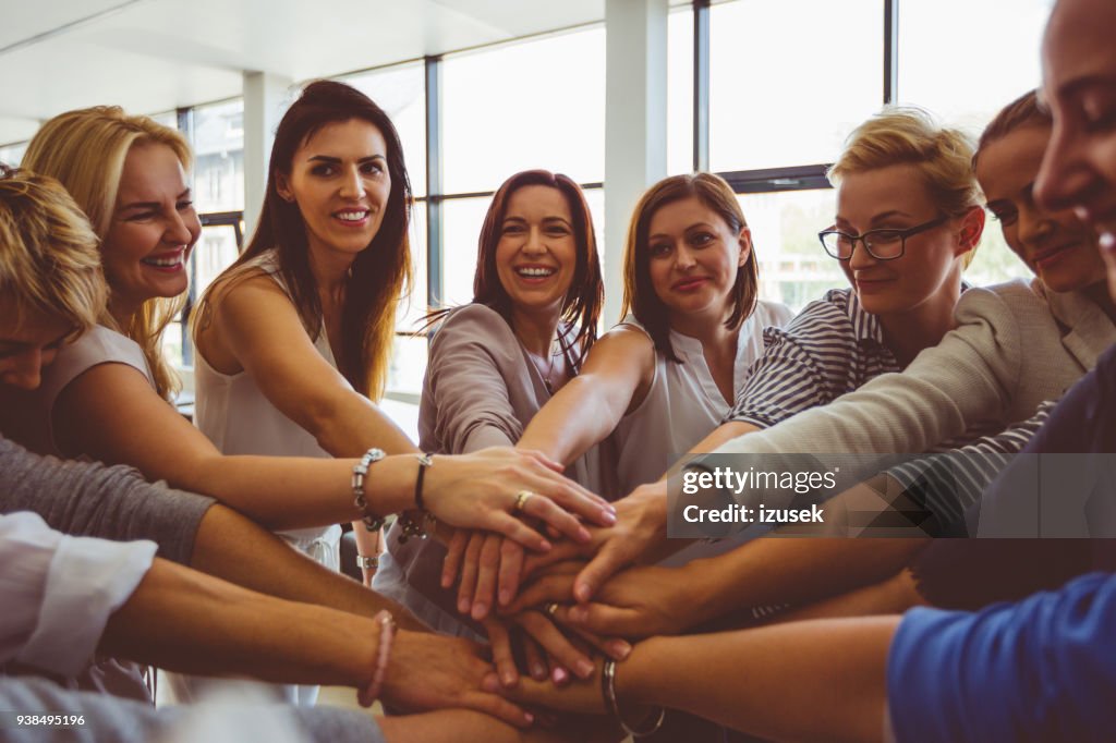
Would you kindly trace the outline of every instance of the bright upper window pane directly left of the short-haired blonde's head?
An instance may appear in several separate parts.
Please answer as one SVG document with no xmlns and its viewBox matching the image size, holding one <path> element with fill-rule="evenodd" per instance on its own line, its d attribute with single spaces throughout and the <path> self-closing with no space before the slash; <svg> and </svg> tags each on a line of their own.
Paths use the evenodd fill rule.
<svg viewBox="0 0 1116 743">
<path fill-rule="evenodd" d="M 713 170 L 833 162 L 849 131 L 883 102 L 882 28 L 879 0 L 713 6 Z"/>
</svg>

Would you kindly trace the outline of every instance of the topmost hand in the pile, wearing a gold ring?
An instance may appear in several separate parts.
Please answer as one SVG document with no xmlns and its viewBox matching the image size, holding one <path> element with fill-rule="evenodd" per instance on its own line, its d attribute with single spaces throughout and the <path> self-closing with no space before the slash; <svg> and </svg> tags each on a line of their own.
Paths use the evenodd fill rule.
<svg viewBox="0 0 1116 743">
<path fill-rule="evenodd" d="M 561 469 L 539 452 L 500 446 L 439 456 L 426 473 L 424 500 L 450 525 L 498 532 L 545 552 L 550 542 L 517 517 L 549 524 L 578 542 L 589 539 L 578 517 L 599 527 L 616 522 L 606 500 L 561 475 Z"/>
</svg>

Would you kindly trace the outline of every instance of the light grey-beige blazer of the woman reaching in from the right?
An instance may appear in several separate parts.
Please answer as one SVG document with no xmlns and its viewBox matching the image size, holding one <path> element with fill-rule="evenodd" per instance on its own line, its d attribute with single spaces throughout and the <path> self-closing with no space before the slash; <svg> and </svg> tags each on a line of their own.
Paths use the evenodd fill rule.
<svg viewBox="0 0 1116 743">
<path fill-rule="evenodd" d="M 899 374 L 825 407 L 728 442 L 718 453 L 918 453 L 977 424 L 1023 421 L 1116 342 L 1116 327 L 1078 292 L 1037 279 L 964 292 L 958 328 Z"/>
</svg>

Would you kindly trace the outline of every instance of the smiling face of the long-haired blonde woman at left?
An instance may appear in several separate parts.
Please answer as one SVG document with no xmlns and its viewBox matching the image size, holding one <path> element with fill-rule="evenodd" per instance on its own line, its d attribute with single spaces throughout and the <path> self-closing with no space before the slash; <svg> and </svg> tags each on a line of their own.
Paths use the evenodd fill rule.
<svg viewBox="0 0 1116 743">
<path fill-rule="evenodd" d="M 133 312 L 148 299 L 184 292 L 186 259 L 201 230 L 174 151 L 162 144 L 128 149 L 102 243 L 114 307 Z"/>
</svg>

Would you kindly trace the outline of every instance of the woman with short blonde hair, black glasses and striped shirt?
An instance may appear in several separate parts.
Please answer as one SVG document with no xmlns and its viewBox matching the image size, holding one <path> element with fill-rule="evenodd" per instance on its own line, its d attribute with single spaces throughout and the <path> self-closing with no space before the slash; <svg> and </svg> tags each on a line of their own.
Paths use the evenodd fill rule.
<svg viewBox="0 0 1116 743">
<path fill-rule="evenodd" d="M 966 135 L 915 108 L 887 109 L 849 135 L 829 171 L 837 219 L 820 240 L 853 286 L 828 291 L 788 326 L 764 330 L 763 355 L 737 390 L 733 408 L 691 452 L 710 451 L 899 372 L 954 327 L 961 274 L 984 228 L 972 152 Z M 617 502 L 633 515 L 615 527 L 623 537 L 600 535 L 597 559 L 579 581 L 586 599 L 643 546 L 665 544 L 665 492 L 666 483 L 658 482 Z M 561 551 L 569 557 L 575 550 Z"/>
</svg>

